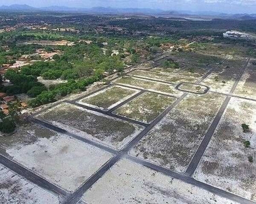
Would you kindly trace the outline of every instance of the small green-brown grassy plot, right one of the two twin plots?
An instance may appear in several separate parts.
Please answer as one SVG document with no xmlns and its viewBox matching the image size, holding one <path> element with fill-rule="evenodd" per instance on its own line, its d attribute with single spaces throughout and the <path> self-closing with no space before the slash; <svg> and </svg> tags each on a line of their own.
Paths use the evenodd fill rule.
<svg viewBox="0 0 256 204">
<path fill-rule="evenodd" d="M 145 92 L 143 95 L 126 103 L 126 105 L 116 109 L 114 114 L 150 123 L 174 101 L 175 98 L 173 97 Z"/>
</svg>

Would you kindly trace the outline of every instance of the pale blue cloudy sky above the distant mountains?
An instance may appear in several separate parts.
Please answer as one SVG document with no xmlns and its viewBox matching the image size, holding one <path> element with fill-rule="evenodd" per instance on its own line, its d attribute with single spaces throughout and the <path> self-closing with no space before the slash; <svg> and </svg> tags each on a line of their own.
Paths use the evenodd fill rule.
<svg viewBox="0 0 256 204">
<path fill-rule="evenodd" d="M 67 7 L 137 7 L 225 13 L 256 13 L 256 0 L 0 0 L 0 5 L 27 4 Z"/>
</svg>

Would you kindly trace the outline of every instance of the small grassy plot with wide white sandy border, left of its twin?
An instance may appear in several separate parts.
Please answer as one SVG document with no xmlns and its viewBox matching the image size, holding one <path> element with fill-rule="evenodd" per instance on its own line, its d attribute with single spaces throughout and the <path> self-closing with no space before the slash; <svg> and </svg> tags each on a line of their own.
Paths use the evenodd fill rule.
<svg viewBox="0 0 256 204">
<path fill-rule="evenodd" d="M 137 92 L 139 92 L 139 90 L 125 88 L 122 86 L 113 86 L 81 99 L 78 103 L 108 110 L 119 103 L 122 103 L 122 101 L 129 99 L 133 95 L 137 94 Z"/>
</svg>

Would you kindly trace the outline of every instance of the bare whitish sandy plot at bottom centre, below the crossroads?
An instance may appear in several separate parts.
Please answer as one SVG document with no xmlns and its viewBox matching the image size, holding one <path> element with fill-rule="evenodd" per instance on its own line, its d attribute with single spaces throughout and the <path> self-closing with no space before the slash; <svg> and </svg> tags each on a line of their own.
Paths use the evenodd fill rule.
<svg viewBox="0 0 256 204">
<path fill-rule="evenodd" d="M 85 192 L 83 201 L 88 204 L 235 204 L 126 159 Z"/>
</svg>

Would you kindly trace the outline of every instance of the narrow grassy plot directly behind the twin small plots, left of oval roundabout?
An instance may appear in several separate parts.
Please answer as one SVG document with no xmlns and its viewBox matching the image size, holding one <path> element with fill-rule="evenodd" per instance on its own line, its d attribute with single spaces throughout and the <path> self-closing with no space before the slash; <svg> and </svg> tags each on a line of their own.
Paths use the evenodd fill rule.
<svg viewBox="0 0 256 204">
<path fill-rule="evenodd" d="M 152 90 L 155 92 L 164 93 L 167 95 L 181 96 L 182 92 L 175 90 L 174 86 L 170 84 L 152 82 L 150 80 L 143 80 L 138 78 L 132 78 L 126 76 L 124 78 L 119 78 L 115 81 L 116 84 L 124 84 L 126 86 L 135 87 L 135 88 L 144 88 L 146 90 Z"/>
</svg>

